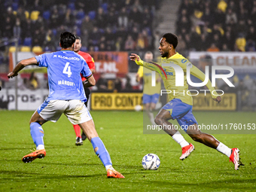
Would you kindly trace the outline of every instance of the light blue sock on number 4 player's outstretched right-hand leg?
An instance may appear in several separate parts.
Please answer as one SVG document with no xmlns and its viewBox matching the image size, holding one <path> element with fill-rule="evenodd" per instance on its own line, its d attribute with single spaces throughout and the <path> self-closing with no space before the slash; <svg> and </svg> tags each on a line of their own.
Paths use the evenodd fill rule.
<svg viewBox="0 0 256 192">
<path fill-rule="evenodd" d="M 99 157 L 100 160 L 102 160 L 103 165 L 104 166 L 112 165 L 110 156 L 102 140 L 99 139 L 99 137 L 93 137 L 93 139 L 91 139 L 90 142 L 93 145 L 93 150 L 95 148 L 98 148 L 98 151 L 96 151 L 96 155 Z"/>
</svg>

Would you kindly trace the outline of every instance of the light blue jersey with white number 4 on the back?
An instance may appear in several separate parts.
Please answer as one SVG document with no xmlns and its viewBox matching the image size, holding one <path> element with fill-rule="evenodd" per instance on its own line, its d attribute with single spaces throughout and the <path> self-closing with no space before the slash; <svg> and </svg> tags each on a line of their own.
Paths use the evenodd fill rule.
<svg viewBox="0 0 256 192">
<path fill-rule="evenodd" d="M 50 100 L 87 101 L 80 73 L 89 78 L 92 75 L 83 57 L 72 50 L 60 50 L 35 56 L 39 67 L 47 67 Z"/>
</svg>

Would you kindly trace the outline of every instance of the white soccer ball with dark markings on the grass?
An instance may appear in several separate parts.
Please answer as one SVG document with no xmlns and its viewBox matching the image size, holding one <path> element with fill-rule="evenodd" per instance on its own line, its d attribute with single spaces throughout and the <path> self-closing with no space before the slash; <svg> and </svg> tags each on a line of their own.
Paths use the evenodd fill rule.
<svg viewBox="0 0 256 192">
<path fill-rule="evenodd" d="M 156 154 L 146 154 L 142 159 L 142 166 L 146 170 L 157 170 L 160 166 L 160 159 Z"/>
</svg>

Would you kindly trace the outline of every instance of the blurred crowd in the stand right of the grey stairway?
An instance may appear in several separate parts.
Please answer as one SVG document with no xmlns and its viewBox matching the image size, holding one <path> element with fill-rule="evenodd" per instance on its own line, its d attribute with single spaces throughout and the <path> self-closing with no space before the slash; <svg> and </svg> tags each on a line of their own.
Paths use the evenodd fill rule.
<svg viewBox="0 0 256 192">
<path fill-rule="evenodd" d="M 255 51 L 255 0 L 182 0 L 178 51 Z"/>
</svg>

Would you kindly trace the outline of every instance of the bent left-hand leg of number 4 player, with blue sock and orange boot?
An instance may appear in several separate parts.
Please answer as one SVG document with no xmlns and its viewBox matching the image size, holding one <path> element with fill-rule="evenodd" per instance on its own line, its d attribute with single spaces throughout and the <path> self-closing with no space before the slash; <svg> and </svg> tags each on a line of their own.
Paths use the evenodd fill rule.
<svg viewBox="0 0 256 192">
<path fill-rule="evenodd" d="M 44 130 L 42 129 L 41 125 L 47 122 L 44 120 L 39 114 L 38 111 L 32 115 L 30 119 L 30 134 L 32 139 L 36 145 L 36 150 L 32 151 L 32 153 L 25 155 L 22 160 L 24 163 L 31 163 L 32 160 L 37 158 L 43 158 L 46 155 L 46 151 L 44 149 Z"/>
</svg>

